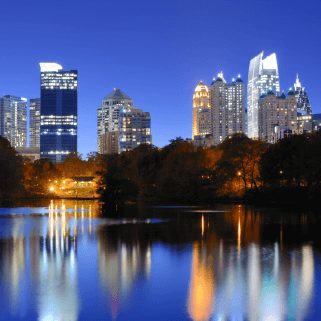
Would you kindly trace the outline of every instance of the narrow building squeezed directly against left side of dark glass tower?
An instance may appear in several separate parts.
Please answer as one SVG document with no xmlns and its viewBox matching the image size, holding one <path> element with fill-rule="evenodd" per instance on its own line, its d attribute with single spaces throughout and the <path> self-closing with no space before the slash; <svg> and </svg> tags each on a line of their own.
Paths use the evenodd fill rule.
<svg viewBox="0 0 321 321">
<path fill-rule="evenodd" d="M 40 98 L 30 99 L 29 147 L 40 148 Z"/>
</svg>

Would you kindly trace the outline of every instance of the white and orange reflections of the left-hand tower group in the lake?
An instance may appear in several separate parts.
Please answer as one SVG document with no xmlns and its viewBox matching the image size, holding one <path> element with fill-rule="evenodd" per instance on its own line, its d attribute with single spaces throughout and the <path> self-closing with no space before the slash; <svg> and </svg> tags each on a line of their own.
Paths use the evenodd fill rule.
<svg viewBox="0 0 321 321">
<path fill-rule="evenodd" d="M 51 201 L 48 217 L 31 217 L 33 222 L 23 217 L 7 220 L 6 234 L 11 236 L 1 239 L 0 271 L 8 285 L 13 314 L 23 305 L 24 290 L 33 290 L 38 320 L 78 319 L 77 241 L 79 236 L 91 234 L 91 219 L 99 212 L 95 208 L 93 214 L 96 204 L 92 202 L 70 205 L 68 201 Z M 86 224 L 81 221 L 84 213 Z M 28 270 L 33 285 L 23 289 Z"/>
</svg>

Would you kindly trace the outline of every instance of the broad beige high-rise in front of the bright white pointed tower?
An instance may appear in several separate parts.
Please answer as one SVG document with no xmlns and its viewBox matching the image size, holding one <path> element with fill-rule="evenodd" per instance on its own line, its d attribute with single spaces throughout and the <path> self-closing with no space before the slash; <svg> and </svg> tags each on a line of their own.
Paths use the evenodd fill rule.
<svg viewBox="0 0 321 321">
<path fill-rule="evenodd" d="M 273 91 L 262 95 L 259 100 L 259 139 L 276 143 L 297 132 L 297 101 L 295 93 L 276 96 Z"/>
</svg>

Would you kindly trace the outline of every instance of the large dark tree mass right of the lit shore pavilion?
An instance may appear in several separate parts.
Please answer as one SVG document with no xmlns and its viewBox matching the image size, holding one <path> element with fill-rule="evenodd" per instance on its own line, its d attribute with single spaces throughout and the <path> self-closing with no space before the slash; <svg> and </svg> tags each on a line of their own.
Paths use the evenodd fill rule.
<svg viewBox="0 0 321 321">
<path fill-rule="evenodd" d="M 141 145 L 106 158 L 102 198 L 207 202 L 313 202 L 321 196 L 321 133 L 270 145 L 237 134 L 215 147 L 177 138 L 162 149 Z"/>
</svg>

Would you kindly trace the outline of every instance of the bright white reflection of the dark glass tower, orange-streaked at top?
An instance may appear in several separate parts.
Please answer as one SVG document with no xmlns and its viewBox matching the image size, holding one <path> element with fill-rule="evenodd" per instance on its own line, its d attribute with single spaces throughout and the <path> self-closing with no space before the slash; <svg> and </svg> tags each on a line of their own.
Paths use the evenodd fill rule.
<svg viewBox="0 0 321 321">
<path fill-rule="evenodd" d="M 38 270 L 39 320 L 78 319 L 77 223 L 69 222 L 65 204 L 49 208 L 47 233 L 40 237 Z"/>
</svg>

